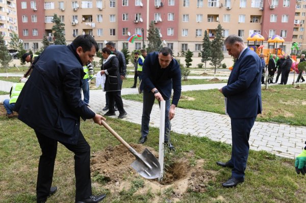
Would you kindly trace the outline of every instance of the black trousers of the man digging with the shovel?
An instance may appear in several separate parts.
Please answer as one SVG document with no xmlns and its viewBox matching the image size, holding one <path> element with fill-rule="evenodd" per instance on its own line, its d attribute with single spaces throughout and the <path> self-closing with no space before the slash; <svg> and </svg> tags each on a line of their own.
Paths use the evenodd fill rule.
<svg viewBox="0 0 306 203">
<path fill-rule="evenodd" d="M 35 133 L 41 148 L 36 185 L 37 202 L 40 202 L 49 195 L 52 185 L 58 141 L 37 131 L 35 131 Z M 75 201 L 86 199 L 92 195 L 90 179 L 90 146 L 81 131 L 76 145 L 64 142 L 60 143 L 74 153 Z"/>
</svg>

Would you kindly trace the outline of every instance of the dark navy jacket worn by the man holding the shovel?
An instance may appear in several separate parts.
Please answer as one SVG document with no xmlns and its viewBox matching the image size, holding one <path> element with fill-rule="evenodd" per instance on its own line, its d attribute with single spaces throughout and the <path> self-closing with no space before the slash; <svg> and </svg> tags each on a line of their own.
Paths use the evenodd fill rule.
<svg viewBox="0 0 306 203">
<path fill-rule="evenodd" d="M 18 119 L 58 141 L 77 144 L 80 117 L 95 113 L 81 98 L 84 71 L 72 44 L 50 45 L 40 55 L 15 104 Z"/>
</svg>

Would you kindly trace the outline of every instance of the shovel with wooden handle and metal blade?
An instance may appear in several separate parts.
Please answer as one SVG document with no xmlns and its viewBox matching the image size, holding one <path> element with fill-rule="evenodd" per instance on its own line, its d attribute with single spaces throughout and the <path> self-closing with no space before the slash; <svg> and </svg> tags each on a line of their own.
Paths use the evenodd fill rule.
<svg viewBox="0 0 306 203">
<path fill-rule="evenodd" d="M 129 151 L 136 157 L 136 160 L 131 164 L 142 177 L 146 179 L 156 179 L 160 176 L 161 166 L 158 159 L 148 150 L 144 149 L 141 154 L 138 154 L 126 141 L 124 141 L 105 121 L 102 125 L 110 131 Z"/>
</svg>

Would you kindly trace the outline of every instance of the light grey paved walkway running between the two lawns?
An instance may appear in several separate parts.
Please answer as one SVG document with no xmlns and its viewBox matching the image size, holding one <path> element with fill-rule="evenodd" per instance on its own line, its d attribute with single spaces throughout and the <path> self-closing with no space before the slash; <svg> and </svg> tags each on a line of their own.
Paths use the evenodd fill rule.
<svg viewBox="0 0 306 203">
<path fill-rule="evenodd" d="M 11 85 L 11 82 L 0 80 L 0 90 L 2 91 L 9 91 Z M 219 89 L 224 85 L 225 83 L 184 85 L 182 86 L 182 91 Z M 121 94 L 138 94 L 138 91 L 137 89 L 122 89 Z M 7 98 L 9 98 L 8 95 L 0 95 L 0 101 Z M 124 120 L 141 124 L 142 103 L 123 100 L 123 104 L 128 113 Z M 104 105 L 105 92 L 91 90 L 91 108 L 103 114 L 105 112 L 102 112 L 101 109 Z M 159 112 L 159 106 L 154 105 L 151 113 L 150 126 L 159 127 Z M 118 111 L 116 113 L 118 115 Z M 223 114 L 176 108 L 175 117 L 171 121 L 171 130 L 177 133 L 190 134 L 198 137 L 206 136 L 212 140 L 232 143 L 231 120 L 227 115 Z M 249 144 L 252 150 L 265 150 L 278 156 L 295 158 L 305 146 L 305 138 L 306 127 L 255 122 L 251 131 Z M 138 140 L 138 137 L 135 138 L 135 142 L 136 140 Z"/>
</svg>

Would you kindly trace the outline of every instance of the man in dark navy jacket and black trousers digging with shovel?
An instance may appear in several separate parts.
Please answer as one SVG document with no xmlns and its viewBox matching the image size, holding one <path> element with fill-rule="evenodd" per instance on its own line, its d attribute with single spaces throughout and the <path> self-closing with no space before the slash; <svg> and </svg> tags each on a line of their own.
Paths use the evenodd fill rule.
<svg viewBox="0 0 306 203">
<path fill-rule="evenodd" d="M 34 129 L 42 152 L 36 186 L 39 203 L 57 190 L 51 186 L 58 142 L 74 153 L 75 202 L 99 202 L 106 196 L 92 195 L 90 146 L 80 131 L 80 117 L 98 125 L 105 120 L 81 97 L 83 66 L 97 51 L 90 35 L 80 35 L 68 46 L 46 47 L 16 101 L 18 119 Z"/>
</svg>

